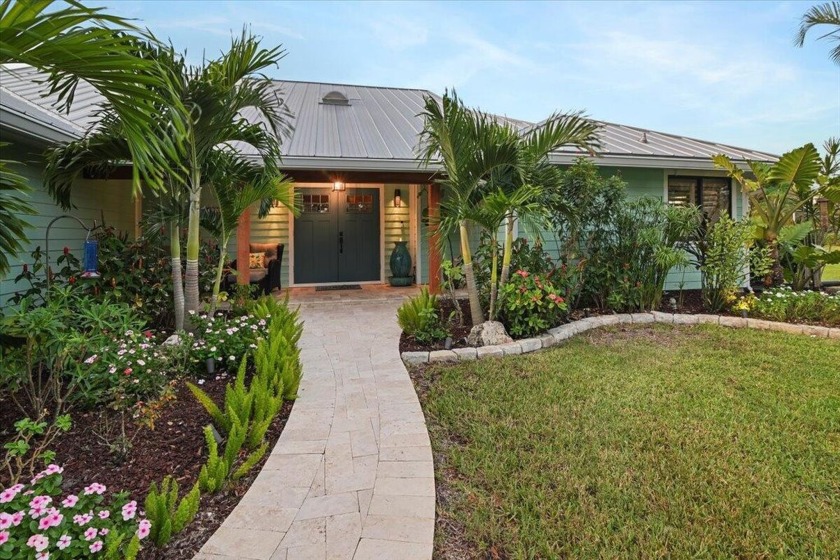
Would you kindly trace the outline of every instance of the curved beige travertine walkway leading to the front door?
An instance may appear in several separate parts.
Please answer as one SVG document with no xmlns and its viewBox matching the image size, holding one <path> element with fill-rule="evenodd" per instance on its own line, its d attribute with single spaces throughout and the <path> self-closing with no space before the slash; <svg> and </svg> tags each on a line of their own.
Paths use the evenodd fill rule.
<svg viewBox="0 0 840 560">
<path fill-rule="evenodd" d="M 299 291 L 300 397 L 248 493 L 196 558 L 428 560 L 429 435 L 398 352 L 406 290 Z"/>
</svg>

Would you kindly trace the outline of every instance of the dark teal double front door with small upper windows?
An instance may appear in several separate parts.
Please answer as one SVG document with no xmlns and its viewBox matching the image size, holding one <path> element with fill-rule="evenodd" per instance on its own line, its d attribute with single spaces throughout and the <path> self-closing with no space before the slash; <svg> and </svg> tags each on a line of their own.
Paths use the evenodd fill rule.
<svg viewBox="0 0 840 560">
<path fill-rule="evenodd" d="M 380 280 L 379 189 L 302 189 L 295 283 Z"/>
</svg>

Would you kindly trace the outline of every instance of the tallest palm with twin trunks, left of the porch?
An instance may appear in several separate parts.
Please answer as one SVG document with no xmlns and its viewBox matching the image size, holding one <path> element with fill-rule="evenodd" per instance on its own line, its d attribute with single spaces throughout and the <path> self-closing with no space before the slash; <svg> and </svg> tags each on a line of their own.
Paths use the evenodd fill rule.
<svg viewBox="0 0 840 560">
<path fill-rule="evenodd" d="M 220 153 L 235 148 L 240 154 L 251 151 L 242 160 L 253 158 L 266 178 L 275 182 L 282 179 L 278 136 L 288 127 L 288 112 L 271 81 L 259 72 L 276 65 L 285 53 L 280 47 L 260 48 L 259 40 L 245 32 L 233 39 L 227 53 L 198 67 L 186 66 L 172 47 L 158 46 L 154 52 L 171 75 L 179 76 L 177 82 L 170 84 L 170 95 L 177 102 L 159 107 L 156 119 L 173 123 L 157 132 L 173 135 L 176 161 L 183 162 L 181 168 L 166 177 L 170 202 L 177 199 L 175 207 L 187 208 L 185 220 L 177 211 L 169 214 L 176 322 L 182 324 L 178 318 L 183 317 L 183 310 L 194 311 L 199 305 L 201 193 L 209 179 L 205 173 Z M 247 120 L 245 112 L 259 115 L 262 120 Z M 57 200 L 69 203 L 75 179 L 84 169 L 107 169 L 129 161 L 123 124 L 115 111 L 106 111 L 99 128 L 49 154 L 45 180 Z M 178 189 L 182 192 L 176 193 Z M 187 262 L 182 283 L 181 268 L 175 264 L 180 262 L 183 222 L 187 225 Z M 183 294 L 183 299 L 179 294 Z"/>
</svg>

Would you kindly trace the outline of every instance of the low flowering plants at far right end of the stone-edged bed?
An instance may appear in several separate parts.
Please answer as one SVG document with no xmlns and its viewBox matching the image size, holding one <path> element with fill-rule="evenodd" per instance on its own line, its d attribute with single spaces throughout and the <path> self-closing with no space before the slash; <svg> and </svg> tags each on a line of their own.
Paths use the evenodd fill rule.
<svg viewBox="0 0 840 560">
<path fill-rule="evenodd" d="M 737 305 L 744 304 L 739 302 Z M 750 315 L 771 321 L 840 326 L 840 295 L 773 288 L 755 298 L 747 311 Z"/>
</svg>

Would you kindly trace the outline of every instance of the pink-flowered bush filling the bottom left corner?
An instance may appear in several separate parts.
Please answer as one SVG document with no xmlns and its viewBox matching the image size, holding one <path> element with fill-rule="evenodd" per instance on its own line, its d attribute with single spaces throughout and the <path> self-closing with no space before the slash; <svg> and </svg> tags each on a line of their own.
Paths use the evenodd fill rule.
<svg viewBox="0 0 840 560">
<path fill-rule="evenodd" d="M 49 465 L 0 492 L 0 558 L 134 558 L 151 530 L 137 502 L 116 494 L 107 505 L 96 482 L 62 499 L 61 472 Z"/>
</svg>

